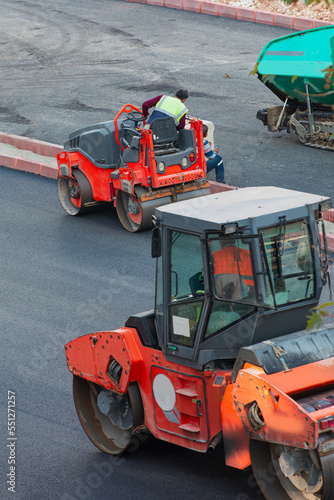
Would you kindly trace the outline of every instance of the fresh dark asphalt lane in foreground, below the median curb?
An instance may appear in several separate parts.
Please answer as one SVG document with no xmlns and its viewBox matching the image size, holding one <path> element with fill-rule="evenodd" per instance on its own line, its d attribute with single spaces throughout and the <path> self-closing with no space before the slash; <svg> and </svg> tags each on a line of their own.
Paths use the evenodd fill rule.
<svg viewBox="0 0 334 500">
<path fill-rule="evenodd" d="M 0 498 L 261 498 L 251 470 L 226 467 L 221 448 L 204 455 L 152 439 L 115 459 L 90 442 L 63 346 L 153 307 L 150 234 L 126 232 L 113 210 L 67 215 L 53 180 L 3 167 L 0 179 Z M 15 496 L 5 484 L 8 390 L 17 405 Z"/>
</svg>

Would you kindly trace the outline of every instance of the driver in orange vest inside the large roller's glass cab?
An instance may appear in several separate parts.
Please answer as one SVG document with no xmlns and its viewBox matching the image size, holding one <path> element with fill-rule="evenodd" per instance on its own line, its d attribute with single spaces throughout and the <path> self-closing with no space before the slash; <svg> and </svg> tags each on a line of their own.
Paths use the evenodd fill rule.
<svg viewBox="0 0 334 500">
<path fill-rule="evenodd" d="M 254 276 L 249 250 L 234 240 L 220 240 L 221 250 L 213 253 L 215 288 L 219 297 L 243 299 L 254 291 Z"/>
</svg>

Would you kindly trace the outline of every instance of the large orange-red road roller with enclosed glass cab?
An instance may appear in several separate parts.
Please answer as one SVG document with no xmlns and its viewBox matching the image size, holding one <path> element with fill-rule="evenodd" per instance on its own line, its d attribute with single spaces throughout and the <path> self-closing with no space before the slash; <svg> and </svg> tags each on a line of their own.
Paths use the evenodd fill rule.
<svg viewBox="0 0 334 500">
<path fill-rule="evenodd" d="M 330 207 L 261 186 L 156 208 L 154 308 L 65 345 L 95 446 L 221 446 L 267 500 L 333 499 L 334 326 L 307 329 L 329 284 Z"/>
</svg>

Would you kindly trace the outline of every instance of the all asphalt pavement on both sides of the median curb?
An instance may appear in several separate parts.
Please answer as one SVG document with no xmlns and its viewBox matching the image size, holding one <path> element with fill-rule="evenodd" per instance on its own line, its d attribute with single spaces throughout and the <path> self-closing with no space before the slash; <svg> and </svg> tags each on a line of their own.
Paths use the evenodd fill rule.
<svg viewBox="0 0 334 500">
<path fill-rule="evenodd" d="M 116 0 L 2 0 L 0 130 L 62 144 L 179 87 L 215 124 L 226 179 L 332 194 L 333 154 L 272 135 L 255 119 L 276 98 L 249 76 L 288 30 Z M 229 76 L 227 76 L 229 75 Z M 84 434 L 63 345 L 151 309 L 150 235 L 113 210 L 73 218 L 54 181 L 0 167 L 1 498 L 7 491 L 7 391 L 15 392 L 16 495 L 22 500 L 262 498 L 250 470 L 150 440 L 113 459 Z"/>
</svg>

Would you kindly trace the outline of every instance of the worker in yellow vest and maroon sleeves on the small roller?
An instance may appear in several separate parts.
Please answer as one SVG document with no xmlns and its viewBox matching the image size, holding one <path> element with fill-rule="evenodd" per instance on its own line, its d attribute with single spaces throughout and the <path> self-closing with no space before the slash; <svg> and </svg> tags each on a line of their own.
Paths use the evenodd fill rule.
<svg viewBox="0 0 334 500">
<path fill-rule="evenodd" d="M 149 101 L 145 101 L 142 104 L 143 115 L 145 118 L 148 116 L 148 110 L 155 106 L 151 113 L 151 116 L 146 121 L 146 125 L 152 123 L 156 118 L 161 118 L 165 116 L 172 116 L 175 120 L 175 125 L 177 130 L 181 130 L 186 125 L 186 114 L 188 109 L 185 107 L 184 103 L 189 97 L 188 90 L 179 89 L 174 97 L 167 95 L 158 95 Z"/>
</svg>

